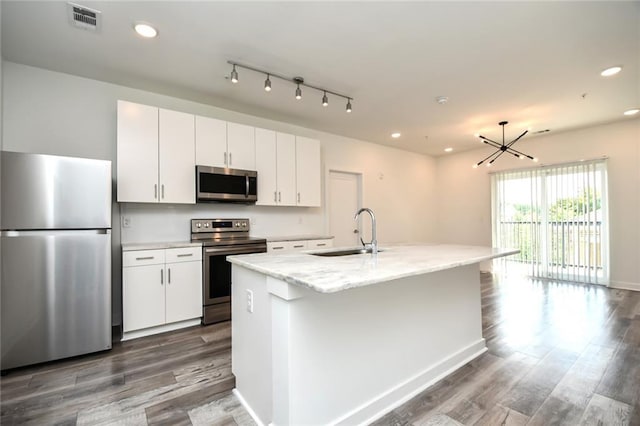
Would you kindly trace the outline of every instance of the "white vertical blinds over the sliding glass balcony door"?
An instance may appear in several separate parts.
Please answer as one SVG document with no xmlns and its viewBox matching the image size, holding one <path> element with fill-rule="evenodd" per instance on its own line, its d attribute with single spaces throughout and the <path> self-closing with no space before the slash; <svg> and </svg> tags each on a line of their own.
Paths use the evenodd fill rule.
<svg viewBox="0 0 640 426">
<path fill-rule="evenodd" d="M 606 160 L 492 175 L 493 245 L 534 277 L 609 281 Z"/>
</svg>

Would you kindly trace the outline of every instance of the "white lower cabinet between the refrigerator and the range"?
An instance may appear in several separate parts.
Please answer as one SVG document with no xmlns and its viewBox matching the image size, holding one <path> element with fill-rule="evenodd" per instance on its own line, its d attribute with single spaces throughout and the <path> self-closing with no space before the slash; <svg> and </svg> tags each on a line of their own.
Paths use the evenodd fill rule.
<svg viewBox="0 0 640 426">
<path fill-rule="evenodd" d="M 122 255 L 125 335 L 168 330 L 162 326 L 202 316 L 200 247 L 127 251 Z M 190 324 L 189 324 L 190 325 Z"/>
</svg>

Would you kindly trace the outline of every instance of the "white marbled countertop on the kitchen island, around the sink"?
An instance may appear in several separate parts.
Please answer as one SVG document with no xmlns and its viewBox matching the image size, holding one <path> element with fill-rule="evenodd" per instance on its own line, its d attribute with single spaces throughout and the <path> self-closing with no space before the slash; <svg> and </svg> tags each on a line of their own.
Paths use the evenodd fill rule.
<svg viewBox="0 0 640 426">
<path fill-rule="evenodd" d="M 351 256 L 313 256 L 341 248 L 291 253 L 229 256 L 231 263 L 321 293 L 442 271 L 516 254 L 519 250 L 448 244 L 383 244 L 381 252 Z"/>
</svg>

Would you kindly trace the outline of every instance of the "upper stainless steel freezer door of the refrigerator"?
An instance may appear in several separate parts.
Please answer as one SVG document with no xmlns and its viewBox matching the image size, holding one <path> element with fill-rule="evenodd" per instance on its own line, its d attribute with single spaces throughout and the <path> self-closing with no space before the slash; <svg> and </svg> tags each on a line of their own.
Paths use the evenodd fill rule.
<svg viewBox="0 0 640 426">
<path fill-rule="evenodd" d="M 3 151 L 2 229 L 111 228 L 111 162 Z"/>
</svg>

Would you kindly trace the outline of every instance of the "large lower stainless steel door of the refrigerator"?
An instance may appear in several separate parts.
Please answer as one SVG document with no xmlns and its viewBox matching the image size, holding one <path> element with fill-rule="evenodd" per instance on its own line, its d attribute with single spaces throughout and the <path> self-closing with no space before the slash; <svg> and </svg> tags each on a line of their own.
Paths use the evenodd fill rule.
<svg viewBox="0 0 640 426">
<path fill-rule="evenodd" d="M 2 370 L 111 348 L 110 231 L 6 232 Z"/>
</svg>

